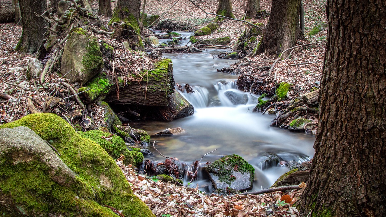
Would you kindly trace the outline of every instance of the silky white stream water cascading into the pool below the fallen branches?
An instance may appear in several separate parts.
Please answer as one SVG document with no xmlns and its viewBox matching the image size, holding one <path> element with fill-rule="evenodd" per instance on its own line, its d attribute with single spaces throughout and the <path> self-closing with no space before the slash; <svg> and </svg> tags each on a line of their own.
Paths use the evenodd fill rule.
<svg viewBox="0 0 386 217">
<path fill-rule="evenodd" d="M 289 132 L 270 127 L 274 115 L 252 113 L 256 105 L 256 95 L 237 90 L 237 75 L 217 72 L 217 69 L 231 64 L 234 60 L 217 59 L 217 50 L 203 53 L 164 54 L 173 61 L 173 74 L 176 83 L 188 83 L 194 93 L 182 95 L 195 107 L 195 114 L 172 122 L 147 121 L 132 124 L 154 134 L 169 127 L 182 127 L 185 134 L 153 137 L 156 148 L 168 157 L 176 157 L 189 165 L 214 149 L 202 159 L 203 164 L 214 161 L 223 155 L 238 154 L 255 168 L 255 181 L 252 190 L 269 188 L 276 179 L 289 171 L 277 163 L 261 163 L 270 154 L 276 154 L 283 161 L 302 162 L 312 158 L 315 137 L 305 133 Z M 227 94 L 237 96 L 229 100 Z M 234 105 L 237 104 L 237 105 Z M 149 159 L 164 161 L 156 150 Z M 189 168 L 188 168 L 189 169 Z M 190 186 L 198 184 L 201 190 L 212 192 L 210 182 L 199 179 Z M 187 183 L 190 180 L 185 180 Z"/>
</svg>

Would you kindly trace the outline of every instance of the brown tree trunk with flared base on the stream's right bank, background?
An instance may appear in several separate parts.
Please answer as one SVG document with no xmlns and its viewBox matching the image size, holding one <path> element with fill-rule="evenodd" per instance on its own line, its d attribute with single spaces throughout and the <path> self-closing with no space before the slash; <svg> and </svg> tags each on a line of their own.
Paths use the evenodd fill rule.
<svg viewBox="0 0 386 217">
<path fill-rule="evenodd" d="M 301 0 L 273 0 L 271 15 L 257 52 L 266 55 L 279 55 L 295 46 L 301 37 L 299 25 Z M 283 58 L 288 56 L 284 54 Z"/>
</svg>

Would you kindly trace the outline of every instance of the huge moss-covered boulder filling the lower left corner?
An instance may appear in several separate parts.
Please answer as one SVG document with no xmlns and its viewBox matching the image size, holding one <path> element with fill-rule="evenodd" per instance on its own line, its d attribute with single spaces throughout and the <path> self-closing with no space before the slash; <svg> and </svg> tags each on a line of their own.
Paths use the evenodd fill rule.
<svg viewBox="0 0 386 217">
<path fill-rule="evenodd" d="M 19 129 L 11 130 L 19 126 L 29 127 L 60 156 L 55 158 L 56 153 L 48 151 L 43 140 L 37 142 L 39 137 L 33 137 L 32 132 L 16 134 Z M 113 217 L 117 215 L 108 208 L 113 207 L 124 216 L 154 216 L 133 194 L 109 154 L 57 115 L 31 114 L 0 129 L 1 141 L 15 137 L 11 148 L 9 139 L 0 143 L 0 212 L 4 215 Z M 47 151 L 43 153 L 42 147 Z M 51 166 L 59 160 L 63 163 Z"/>
</svg>

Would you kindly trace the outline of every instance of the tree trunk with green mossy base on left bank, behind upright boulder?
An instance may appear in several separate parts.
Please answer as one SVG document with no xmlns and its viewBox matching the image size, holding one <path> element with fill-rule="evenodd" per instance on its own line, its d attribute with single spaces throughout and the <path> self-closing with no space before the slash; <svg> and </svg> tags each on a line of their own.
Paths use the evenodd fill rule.
<svg viewBox="0 0 386 217">
<path fill-rule="evenodd" d="M 117 39 L 123 37 L 129 42 L 132 49 L 143 48 L 141 29 L 138 23 L 140 9 L 140 0 L 118 0 L 117 6 L 114 8 L 113 16 L 109 22 L 109 25 L 118 23 L 113 37 Z M 124 22 L 124 24 L 122 22 Z"/>
</svg>

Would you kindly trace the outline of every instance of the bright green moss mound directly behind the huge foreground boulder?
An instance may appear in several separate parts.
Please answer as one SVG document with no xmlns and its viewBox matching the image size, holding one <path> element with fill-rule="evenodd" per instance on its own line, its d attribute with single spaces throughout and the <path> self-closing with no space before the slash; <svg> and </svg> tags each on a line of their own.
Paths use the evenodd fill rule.
<svg viewBox="0 0 386 217">
<path fill-rule="evenodd" d="M 86 132 L 78 132 L 81 137 L 90 139 L 91 141 L 94 141 L 103 149 L 107 151 L 108 154 L 113 159 L 118 159 L 120 156 L 125 156 L 124 164 L 135 164 L 135 159 L 133 159 L 132 153 L 127 149 L 125 141 L 119 136 L 112 136 L 110 140 L 102 139 L 103 136 L 108 137 L 110 136 L 110 133 L 108 132 L 102 132 L 99 130 L 93 130 L 93 131 L 86 131 Z M 142 154 L 142 153 L 141 153 Z M 143 156 L 142 156 L 143 157 Z M 142 162 L 142 161 L 141 161 Z"/>
</svg>

